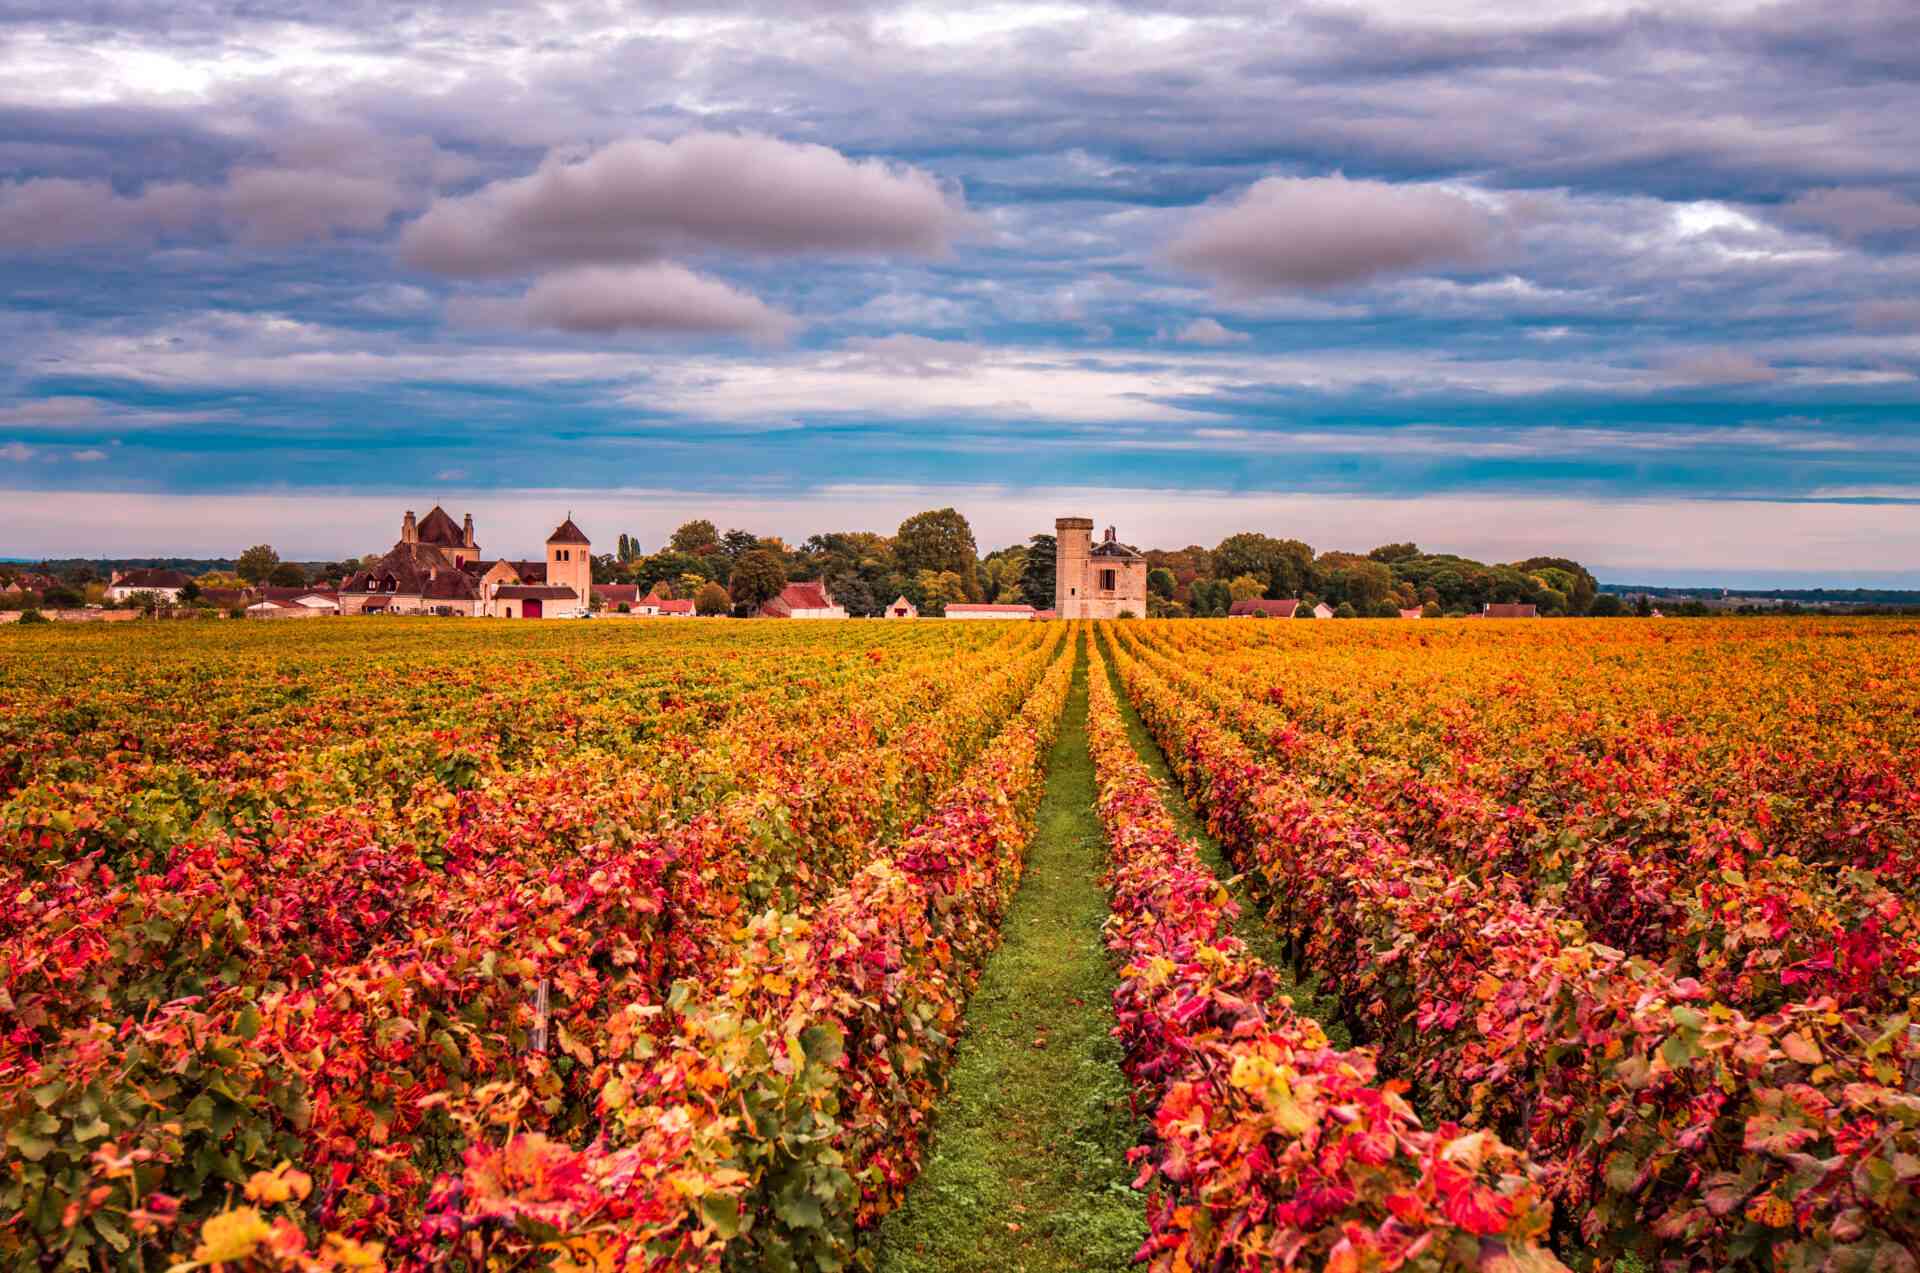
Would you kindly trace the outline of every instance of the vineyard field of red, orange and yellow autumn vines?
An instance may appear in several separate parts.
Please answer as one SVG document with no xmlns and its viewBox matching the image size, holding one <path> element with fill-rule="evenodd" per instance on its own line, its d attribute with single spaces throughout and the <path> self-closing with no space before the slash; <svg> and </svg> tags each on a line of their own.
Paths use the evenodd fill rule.
<svg viewBox="0 0 1920 1273">
<path fill-rule="evenodd" d="M 1165 1273 L 1914 1271 L 1916 641 L 0 632 L 0 1267 L 910 1273 L 943 1108 L 1031 1058 L 1119 1094 L 1073 1187 Z M 1060 862 L 1054 1035 L 995 960 Z"/>
</svg>

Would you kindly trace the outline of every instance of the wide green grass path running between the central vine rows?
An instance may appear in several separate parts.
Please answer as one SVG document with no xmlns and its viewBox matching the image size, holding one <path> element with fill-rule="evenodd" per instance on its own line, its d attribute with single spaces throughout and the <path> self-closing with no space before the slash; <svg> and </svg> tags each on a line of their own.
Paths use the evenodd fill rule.
<svg viewBox="0 0 1920 1273">
<path fill-rule="evenodd" d="M 877 1235 L 881 1273 L 1125 1269 L 1146 1237 L 1127 1150 L 1087 653 L 1048 757 L 1027 872 L 968 1004 L 927 1165 Z"/>
</svg>

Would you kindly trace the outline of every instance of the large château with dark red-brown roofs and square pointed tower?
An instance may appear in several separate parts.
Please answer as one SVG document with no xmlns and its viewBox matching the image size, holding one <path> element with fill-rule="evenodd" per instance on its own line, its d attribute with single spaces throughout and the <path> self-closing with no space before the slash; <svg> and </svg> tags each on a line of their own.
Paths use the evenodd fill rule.
<svg viewBox="0 0 1920 1273">
<path fill-rule="evenodd" d="M 455 526 L 440 505 L 419 522 L 409 509 L 394 549 L 340 588 L 340 612 L 578 618 L 593 595 L 591 549 L 568 516 L 547 536 L 545 561 L 488 559 L 472 513 Z"/>
</svg>

